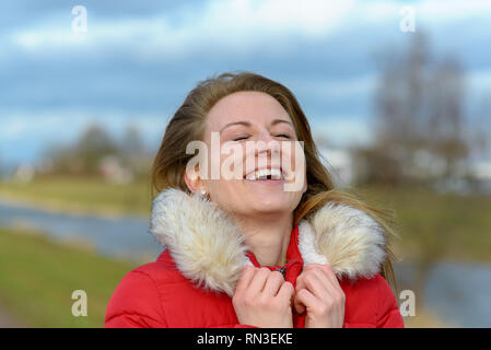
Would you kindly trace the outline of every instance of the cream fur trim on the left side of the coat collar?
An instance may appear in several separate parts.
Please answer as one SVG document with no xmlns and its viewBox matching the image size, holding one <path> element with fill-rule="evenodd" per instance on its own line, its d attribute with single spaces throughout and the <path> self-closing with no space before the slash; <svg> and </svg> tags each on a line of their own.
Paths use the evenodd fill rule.
<svg viewBox="0 0 491 350">
<path fill-rule="evenodd" d="M 238 228 L 219 207 L 197 195 L 167 189 L 153 200 L 150 231 L 180 272 L 204 289 L 232 295 L 248 261 Z"/>
</svg>

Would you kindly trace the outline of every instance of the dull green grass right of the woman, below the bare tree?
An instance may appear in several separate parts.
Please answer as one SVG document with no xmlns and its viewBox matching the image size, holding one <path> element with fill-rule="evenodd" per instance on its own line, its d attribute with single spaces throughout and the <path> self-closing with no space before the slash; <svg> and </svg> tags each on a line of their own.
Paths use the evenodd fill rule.
<svg viewBox="0 0 491 350">
<path fill-rule="evenodd" d="M 436 194 L 423 187 L 363 187 L 356 192 L 395 210 L 397 250 L 416 259 L 491 262 L 491 196 Z"/>
</svg>

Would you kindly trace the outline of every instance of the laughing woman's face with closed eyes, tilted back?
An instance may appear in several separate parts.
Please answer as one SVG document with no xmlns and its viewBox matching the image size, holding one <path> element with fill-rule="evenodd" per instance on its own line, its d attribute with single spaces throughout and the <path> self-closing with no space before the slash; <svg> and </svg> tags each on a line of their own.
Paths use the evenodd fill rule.
<svg viewBox="0 0 491 350">
<path fill-rule="evenodd" d="M 220 144 L 222 150 L 235 147 L 233 152 L 220 154 L 220 162 L 214 165 L 210 161 L 213 156 L 212 133 L 214 144 Z M 269 143 L 271 141 L 276 142 Z M 220 163 L 220 178 L 202 179 L 201 187 L 207 189 L 212 201 L 232 214 L 289 214 L 306 190 L 304 154 L 302 149 L 295 149 L 295 141 L 292 120 L 277 100 L 253 91 L 230 94 L 213 106 L 206 119 L 208 172 L 211 175 L 211 167 Z M 227 167 L 224 167 L 227 159 Z M 234 173 L 233 178 L 224 178 L 224 170 L 239 172 Z M 239 176 L 236 175 L 238 173 Z M 265 176 L 268 179 L 260 179 Z M 284 179 L 288 176 L 296 177 Z M 293 183 L 299 184 L 299 179 L 302 180 L 300 186 L 292 186 Z M 290 184 L 290 188 L 285 184 Z"/>
</svg>

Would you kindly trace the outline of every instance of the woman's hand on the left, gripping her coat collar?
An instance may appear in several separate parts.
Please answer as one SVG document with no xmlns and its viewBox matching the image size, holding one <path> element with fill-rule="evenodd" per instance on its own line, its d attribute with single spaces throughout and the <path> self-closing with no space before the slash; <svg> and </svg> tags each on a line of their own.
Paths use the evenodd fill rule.
<svg viewBox="0 0 491 350">
<path fill-rule="evenodd" d="M 232 304 L 242 325 L 292 328 L 292 283 L 279 271 L 246 266 L 238 278 Z"/>
</svg>

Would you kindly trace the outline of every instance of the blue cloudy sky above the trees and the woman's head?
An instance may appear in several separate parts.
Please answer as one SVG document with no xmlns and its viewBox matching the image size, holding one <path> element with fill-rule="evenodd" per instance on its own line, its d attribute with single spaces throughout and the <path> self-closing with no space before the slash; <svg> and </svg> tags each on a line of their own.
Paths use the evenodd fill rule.
<svg viewBox="0 0 491 350">
<path fill-rule="evenodd" d="M 74 5 L 86 33 L 71 27 Z M 491 95 L 491 1 L 7 1 L 0 11 L 0 162 L 35 161 L 92 121 L 137 124 L 155 148 L 200 80 L 249 70 L 299 97 L 335 144 L 371 140 L 374 55 L 408 44 L 405 5 L 432 51 L 466 69 L 469 114 Z M 489 121 L 489 116 L 487 119 Z"/>
</svg>

